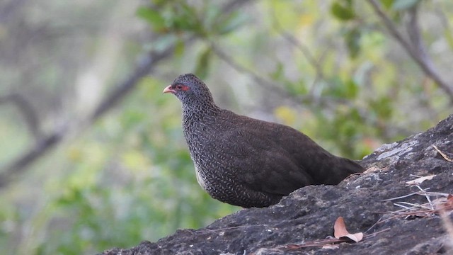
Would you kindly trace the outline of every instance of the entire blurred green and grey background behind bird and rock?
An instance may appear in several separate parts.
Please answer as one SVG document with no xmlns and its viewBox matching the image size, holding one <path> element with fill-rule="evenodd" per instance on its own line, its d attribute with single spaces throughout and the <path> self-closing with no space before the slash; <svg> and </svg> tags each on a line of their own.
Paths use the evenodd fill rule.
<svg viewBox="0 0 453 255">
<path fill-rule="evenodd" d="M 95 254 L 241 208 L 198 186 L 179 74 L 352 159 L 451 114 L 453 1 L 0 1 L 0 250 Z"/>
</svg>

